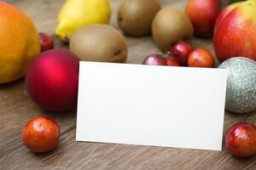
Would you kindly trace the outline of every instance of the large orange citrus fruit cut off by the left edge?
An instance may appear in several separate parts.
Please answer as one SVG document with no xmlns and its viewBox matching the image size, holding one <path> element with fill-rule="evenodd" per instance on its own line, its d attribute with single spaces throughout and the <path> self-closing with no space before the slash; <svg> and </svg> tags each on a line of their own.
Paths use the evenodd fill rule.
<svg viewBox="0 0 256 170">
<path fill-rule="evenodd" d="M 32 20 L 19 8 L 0 2 L 0 84 L 24 77 L 39 53 L 39 35 Z"/>
</svg>

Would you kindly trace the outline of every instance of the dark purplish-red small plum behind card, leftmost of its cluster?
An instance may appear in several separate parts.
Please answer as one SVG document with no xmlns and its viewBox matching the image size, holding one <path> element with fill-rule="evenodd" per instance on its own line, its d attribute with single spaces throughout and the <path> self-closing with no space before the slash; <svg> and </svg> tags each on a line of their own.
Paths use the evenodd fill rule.
<svg viewBox="0 0 256 170">
<path fill-rule="evenodd" d="M 167 63 L 162 55 L 150 54 L 143 60 L 143 65 L 167 65 Z"/>
</svg>

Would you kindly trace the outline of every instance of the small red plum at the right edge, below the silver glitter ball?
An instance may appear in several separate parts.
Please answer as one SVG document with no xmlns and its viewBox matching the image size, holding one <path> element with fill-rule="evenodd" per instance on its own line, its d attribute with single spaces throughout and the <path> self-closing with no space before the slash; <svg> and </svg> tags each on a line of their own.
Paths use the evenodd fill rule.
<svg viewBox="0 0 256 170">
<path fill-rule="evenodd" d="M 227 150 L 237 157 L 248 157 L 256 154 L 256 127 L 247 122 L 233 125 L 225 137 Z"/>
</svg>

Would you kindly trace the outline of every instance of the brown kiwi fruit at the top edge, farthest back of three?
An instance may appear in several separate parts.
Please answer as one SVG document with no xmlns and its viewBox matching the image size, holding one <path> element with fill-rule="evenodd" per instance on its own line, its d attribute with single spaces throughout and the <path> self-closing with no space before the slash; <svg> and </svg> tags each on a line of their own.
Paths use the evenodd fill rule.
<svg viewBox="0 0 256 170">
<path fill-rule="evenodd" d="M 118 10 L 119 27 L 133 37 L 149 35 L 160 8 L 158 0 L 123 0 Z"/>
</svg>

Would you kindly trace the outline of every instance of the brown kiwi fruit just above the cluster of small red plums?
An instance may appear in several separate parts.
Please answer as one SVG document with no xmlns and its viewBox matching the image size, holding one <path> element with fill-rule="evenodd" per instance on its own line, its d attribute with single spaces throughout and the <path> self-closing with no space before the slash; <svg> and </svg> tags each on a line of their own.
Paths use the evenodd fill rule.
<svg viewBox="0 0 256 170">
<path fill-rule="evenodd" d="M 177 8 L 162 8 L 154 17 L 152 35 L 163 50 L 169 50 L 176 42 L 191 39 L 193 34 L 191 20 Z"/>
</svg>

